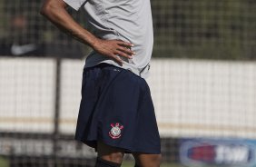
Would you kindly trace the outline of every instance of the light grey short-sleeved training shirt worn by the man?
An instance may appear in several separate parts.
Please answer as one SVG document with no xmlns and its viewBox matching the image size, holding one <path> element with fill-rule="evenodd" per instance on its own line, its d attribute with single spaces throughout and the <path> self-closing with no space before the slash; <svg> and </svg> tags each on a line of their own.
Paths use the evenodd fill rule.
<svg viewBox="0 0 256 167">
<path fill-rule="evenodd" d="M 118 39 L 134 44 L 133 59 L 123 59 L 123 66 L 110 58 L 91 52 L 84 67 L 113 64 L 145 77 L 153 51 L 153 21 L 150 0 L 64 0 L 67 5 L 85 10 L 86 29 L 101 39 Z"/>
</svg>

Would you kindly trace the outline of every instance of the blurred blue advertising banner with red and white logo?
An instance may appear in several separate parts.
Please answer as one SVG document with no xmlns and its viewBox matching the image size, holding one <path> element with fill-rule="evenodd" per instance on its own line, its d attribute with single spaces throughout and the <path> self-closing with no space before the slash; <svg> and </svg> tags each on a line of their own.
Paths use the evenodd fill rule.
<svg viewBox="0 0 256 167">
<path fill-rule="evenodd" d="M 182 139 L 180 160 L 185 166 L 256 166 L 256 141 L 239 139 Z"/>
</svg>

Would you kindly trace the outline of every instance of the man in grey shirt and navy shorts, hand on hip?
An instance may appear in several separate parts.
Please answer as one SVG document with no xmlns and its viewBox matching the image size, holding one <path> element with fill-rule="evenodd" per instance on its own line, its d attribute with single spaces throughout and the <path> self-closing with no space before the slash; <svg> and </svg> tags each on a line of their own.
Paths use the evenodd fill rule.
<svg viewBox="0 0 256 167">
<path fill-rule="evenodd" d="M 86 28 L 67 5 L 84 8 Z M 143 79 L 153 49 L 150 0 L 46 0 L 41 14 L 94 49 L 84 65 L 75 139 L 98 152 L 95 166 L 121 166 L 125 152 L 133 153 L 135 166 L 160 166 L 160 137 Z"/>
</svg>

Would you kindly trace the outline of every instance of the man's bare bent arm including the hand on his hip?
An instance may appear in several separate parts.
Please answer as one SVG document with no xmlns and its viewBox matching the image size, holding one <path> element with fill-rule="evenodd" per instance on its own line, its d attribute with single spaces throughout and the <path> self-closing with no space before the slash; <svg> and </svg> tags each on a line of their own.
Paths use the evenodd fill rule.
<svg viewBox="0 0 256 167">
<path fill-rule="evenodd" d="M 76 23 L 65 8 L 66 4 L 63 0 L 45 0 L 40 13 L 66 34 L 71 34 L 78 41 L 88 44 L 100 54 L 113 58 L 119 64 L 123 63 L 116 54 L 126 58 L 132 58 L 132 55 L 135 54 L 131 49 L 128 49 L 131 48 L 133 44 L 120 40 L 103 40 L 97 38 L 94 34 L 91 34 Z"/>
</svg>

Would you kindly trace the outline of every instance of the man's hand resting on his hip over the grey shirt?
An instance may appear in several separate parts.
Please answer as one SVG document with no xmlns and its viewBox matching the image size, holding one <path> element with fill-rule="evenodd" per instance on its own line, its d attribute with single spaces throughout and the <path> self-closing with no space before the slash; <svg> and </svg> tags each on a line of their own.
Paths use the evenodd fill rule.
<svg viewBox="0 0 256 167">
<path fill-rule="evenodd" d="M 118 64 L 122 65 L 123 60 L 120 56 L 132 59 L 135 52 L 132 51 L 133 44 L 121 40 L 103 40 L 97 38 L 93 44 L 96 52 L 112 58 Z"/>
</svg>

